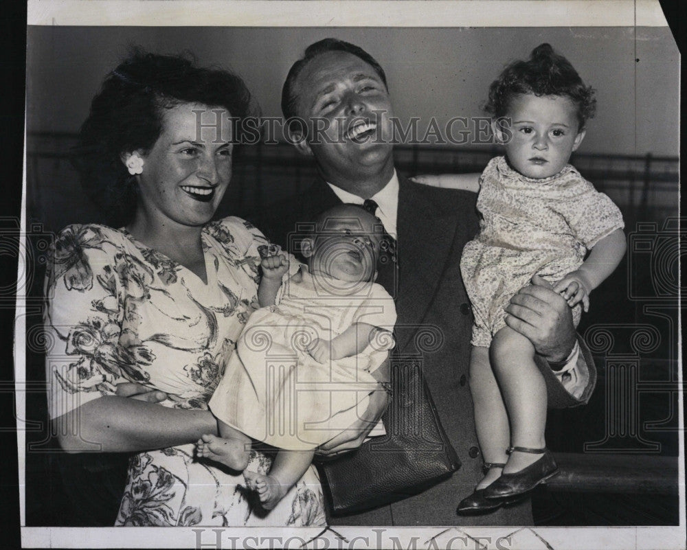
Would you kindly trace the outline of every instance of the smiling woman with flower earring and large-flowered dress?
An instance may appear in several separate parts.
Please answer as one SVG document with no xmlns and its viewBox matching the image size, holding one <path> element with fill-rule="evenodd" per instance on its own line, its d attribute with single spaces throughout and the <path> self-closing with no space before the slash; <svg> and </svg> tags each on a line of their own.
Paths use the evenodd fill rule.
<svg viewBox="0 0 687 550">
<path fill-rule="evenodd" d="M 207 410 L 257 307 L 269 242 L 238 218 L 210 222 L 249 113 L 240 78 L 137 52 L 104 81 L 80 133 L 82 183 L 124 227 L 71 225 L 46 279 L 49 413 L 67 452 L 138 452 L 116 525 L 324 525 L 311 466 L 264 512 L 243 475 L 194 457 Z M 117 227 L 115 225 L 115 227 Z M 159 404 L 117 395 L 136 382 Z M 271 458 L 251 453 L 251 470 Z"/>
</svg>

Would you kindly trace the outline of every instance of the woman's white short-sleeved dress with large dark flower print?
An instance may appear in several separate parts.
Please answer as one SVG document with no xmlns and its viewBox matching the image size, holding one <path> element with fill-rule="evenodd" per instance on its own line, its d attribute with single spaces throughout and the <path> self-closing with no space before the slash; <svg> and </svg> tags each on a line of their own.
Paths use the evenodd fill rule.
<svg viewBox="0 0 687 550">
<path fill-rule="evenodd" d="M 101 396 L 120 382 L 168 394 L 163 406 L 207 410 L 225 363 L 258 308 L 258 264 L 269 242 L 239 218 L 202 233 L 207 284 L 137 242 L 125 230 L 71 225 L 58 236 L 46 278 L 45 325 L 51 418 Z M 251 452 L 249 470 L 271 457 Z M 234 475 L 196 459 L 194 444 L 140 452 L 116 525 L 225 527 L 324 525 L 322 488 L 311 466 L 279 505 L 265 512 Z"/>
</svg>

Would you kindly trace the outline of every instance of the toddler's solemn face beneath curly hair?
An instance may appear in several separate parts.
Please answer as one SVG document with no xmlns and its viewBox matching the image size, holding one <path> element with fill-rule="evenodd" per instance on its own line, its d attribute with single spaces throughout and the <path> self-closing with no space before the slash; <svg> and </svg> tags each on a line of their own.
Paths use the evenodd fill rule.
<svg viewBox="0 0 687 550">
<path fill-rule="evenodd" d="M 517 95 L 506 116 L 512 121 L 508 161 L 528 178 L 558 174 L 585 137 L 578 132 L 574 102 L 562 95 Z"/>
</svg>

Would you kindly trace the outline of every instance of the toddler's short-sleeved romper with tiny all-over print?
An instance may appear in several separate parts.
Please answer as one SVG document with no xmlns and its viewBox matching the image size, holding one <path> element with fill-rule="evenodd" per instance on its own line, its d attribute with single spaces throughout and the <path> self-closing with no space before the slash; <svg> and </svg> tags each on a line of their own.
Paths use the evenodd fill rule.
<svg viewBox="0 0 687 550">
<path fill-rule="evenodd" d="M 475 314 L 472 345 L 488 347 L 504 328 L 504 308 L 532 275 L 559 282 L 587 251 L 624 227 L 613 201 L 567 164 L 533 179 L 495 157 L 480 177 L 480 233 L 465 245 L 460 271 Z M 575 325 L 581 304 L 572 310 Z"/>
</svg>

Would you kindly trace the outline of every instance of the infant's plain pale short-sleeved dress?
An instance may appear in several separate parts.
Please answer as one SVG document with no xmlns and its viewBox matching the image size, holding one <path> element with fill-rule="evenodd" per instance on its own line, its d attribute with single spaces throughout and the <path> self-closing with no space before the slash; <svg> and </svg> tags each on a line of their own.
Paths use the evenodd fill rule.
<svg viewBox="0 0 687 550">
<path fill-rule="evenodd" d="M 379 284 L 347 294 L 348 283 L 316 284 L 323 276 L 304 267 L 301 275 L 282 286 L 277 305 L 251 315 L 210 400 L 229 426 L 288 450 L 317 447 L 367 409 L 379 389 L 371 373 L 394 345 L 396 322 L 394 301 Z M 331 340 L 357 322 L 385 329 L 360 354 L 318 363 L 306 351 L 315 337 Z"/>
</svg>

